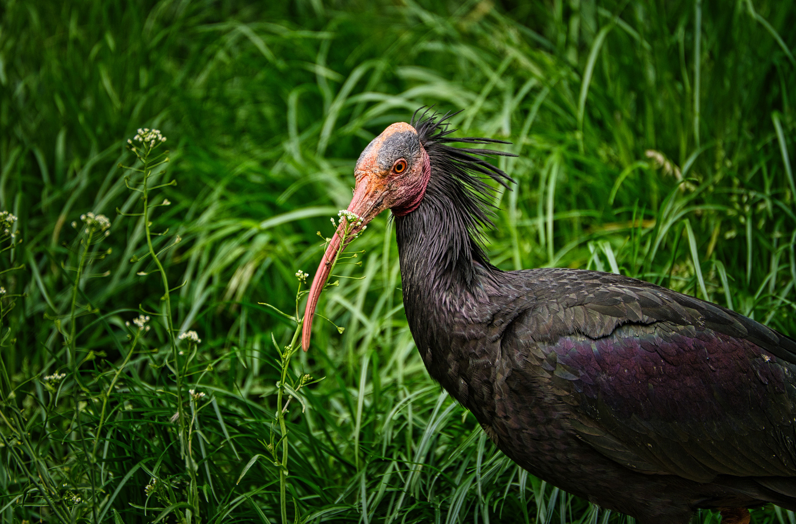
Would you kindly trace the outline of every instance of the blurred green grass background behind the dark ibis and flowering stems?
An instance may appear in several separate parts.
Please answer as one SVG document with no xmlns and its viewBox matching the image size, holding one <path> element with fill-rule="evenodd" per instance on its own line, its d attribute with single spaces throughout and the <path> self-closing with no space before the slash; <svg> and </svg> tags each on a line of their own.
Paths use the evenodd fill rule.
<svg viewBox="0 0 796 524">
<path fill-rule="evenodd" d="M 460 135 L 508 139 L 490 256 L 505 269 L 622 272 L 796 334 L 796 6 L 778 0 L 19 2 L 0 4 L 2 522 L 279 522 L 267 458 L 295 272 L 345 209 L 362 148 L 419 106 Z M 158 127 L 172 202 L 158 230 L 174 325 L 202 342 L 189 377 L 193 460 L 170 424 L 162 287 L 120 162 Z M 167 177 L 167 178 L 166 178 Z M 131 196 L 133 195 L 133 196 Z M 82 213 L 113 225 L 80 280 L 80 377 L 67 371 Z M 386 213 L 385 213 L 386 214 Z M 157 229 L 157 228 L 156 228 Z M 294 373 L 326 376 L 290 412 L 299 522 L 625 522 L 513 466 L 427 377 L 402 311 L 392 226 L 354 244 Z M 10 309 L 13 301 L 16 307 Z M 122 366 L 121 368 L 119 366 Z M 96 435 L 103 392 L 109 415 Z M 187 387 L 187 386 L 186 386 Z M 193 406 L 193 404 L 192 404 Z M 193 409 L 193 407 L 192 407 Z M 100 442 L 92 452 L 87 442 Z M 244 468 L 242 479 L 239 477 Z M 192 485 L 187 468 L 197 471 Z M 147 498 L 152 478 L 171 505 Z M 584 479 L 587 481 L 587 479 Z M 201 508 L 186 512 L 189 490 Z M 767 508 L 754 522 L 796 522 Z M 709 512 L 700 522 L 717 521 Z"/>
</svg>

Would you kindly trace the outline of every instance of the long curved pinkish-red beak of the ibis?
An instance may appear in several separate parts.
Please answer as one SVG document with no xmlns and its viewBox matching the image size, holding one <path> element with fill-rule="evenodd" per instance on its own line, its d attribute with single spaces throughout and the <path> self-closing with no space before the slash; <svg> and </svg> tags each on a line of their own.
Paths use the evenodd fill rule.
<svg viewBox="0 0 796 524">
<path fill-rule="evenodd" d="M 354 189 L 353 198 L 349 204 L 348 210 L 355 213 L 361 221 L 356 224 L 348 224 L 345 218 L 341 218 L 338 230 L 334 232 L 334 237 L 326 248 L 318 265 L 318 271 L 315 272 L 315 277 L 312 280 L 310 287 L 310 295 L 307 296 L 306 309 L 304 310 L 304 325 L 302 327 L 301 345 L 303 350 L 310 347 L 310 336 L 312 334 L 312 319 L 315 315 L 315 307 L 318 306 L 318 299 L 321 297 L 321 291 L 326 286 L 326 280 L 329 279 L 329 274 L 332 271 L 334 260 L 345 249 L 351 240 L 361 232 L 369 221 L 372 221 L 377 214 L 387 208 L 384 205 L 384 196 L 386 194 L 386 187 L 380 183 L 376 176 L 365 174 L 357 181 L 357 187 Z M 349 231 L 345 235 L 346 226 L 349 225 Z M 345 243 L 344 243 L 345 242 Z"/>
</svg>

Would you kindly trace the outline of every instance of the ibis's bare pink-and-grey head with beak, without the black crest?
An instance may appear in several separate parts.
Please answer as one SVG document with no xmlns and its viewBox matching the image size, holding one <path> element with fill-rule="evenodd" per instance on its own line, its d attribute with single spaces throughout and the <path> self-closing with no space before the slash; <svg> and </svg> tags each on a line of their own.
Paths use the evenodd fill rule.
<svg viewBox="0 0 796 524">
<path fill-rule="evenodd" d="M 393 123 L 362 151 L 354 176 L 356 186 L 348 211 L 356 214 L 359 219 L 349 224 L 349 219 L 341 218 L 338 230 L 326 248 L 318 271 L 315 272 L 304 314 L 304 350 L 310 346 L 315 307 L 329 278 L 334 259 L 341 250 L 345 228 L 348 227 L 345 237 L 345 242 L 348 243 L 384 209 L 392 209 L 392 213 L 399 217 L 412 213 L 420 205 L 426 192 L 428 179 L 431 178 L 431 161 L 420 143 L 417 130 L 405 122 Z"/>
</svg>

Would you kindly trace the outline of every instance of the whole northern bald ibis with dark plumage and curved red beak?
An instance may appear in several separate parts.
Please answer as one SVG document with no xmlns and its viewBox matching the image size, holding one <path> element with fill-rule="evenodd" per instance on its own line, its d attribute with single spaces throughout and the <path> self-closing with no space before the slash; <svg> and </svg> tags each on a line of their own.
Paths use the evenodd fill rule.
<svg viewBox="0 0 796 524">
<path fill-rule="evenodd" d="M 796 510 L 796 341 L 734 311 L 612 273 L 501 271 L 480 244 L 503 171 L 448 143 L 446 116 L 365 148 L 354 232 L 392 209 L 412 336 L 428 373 L 533 475 L 638 519 L 724 524 Z M 341 228 L 343 226 L 341 225 Z M 341 233 L 341 229 L 338 229 Z M 340 247 L 315 274 L 302 346 Z"/>
</svg>

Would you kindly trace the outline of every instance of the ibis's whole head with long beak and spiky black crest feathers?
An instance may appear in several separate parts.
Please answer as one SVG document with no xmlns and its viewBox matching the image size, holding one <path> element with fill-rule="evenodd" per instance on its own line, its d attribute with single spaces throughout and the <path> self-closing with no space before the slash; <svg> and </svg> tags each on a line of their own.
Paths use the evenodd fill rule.
<svg viewBox="0 0 796 524">
<path fill-rule="evenodd" d="M 464 227 L 477 236 L 476 230 L 479 226 L 491 224 L 489 208 L 492 190 L 482 178 L 491 178 L 505 187 L 508 187 L 507 182 L 512 182 L 512 179 L 502 170 L 474 155 L 517 155 L 505 151 L 449 146 L 447 143 L 509 142 L 483 138 L 452 138 L 449 135 L 455 130 L 449 128 L 448 119 L 456 113 L 442 116 L 428 113 L 429 110 L 421 114 L 418 120 L 412 119 L 414 125 L 393 123 L 373 139 L 359 156 L 354 169 L 357 183 L 348 207 L 348 211 L 356 214 L 357 218 L 355 221 L 352 218 L 350 223 L 345 217 L 341 219 L 341 224 L 318 266 L 318 272 L 315 272 L 304 311 L 304 350 L 310 346 L 312 318 L 318 298 L 326 285 L 326 279 L 329 278 L 335 257 L 341 252 L 341 248 L 345 248 L 342 245 L 343 235 L 345 234 L 347 244 L 384 209 L 392 209 L 392 214 L 397 217 L 415 211 L 426 195 L 432 164 L 435 166 L 434 176 L 447 182 L 448 190 L 455 194 Z"/>
</svg>

